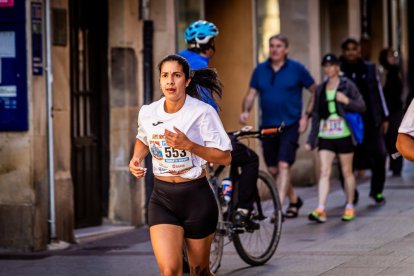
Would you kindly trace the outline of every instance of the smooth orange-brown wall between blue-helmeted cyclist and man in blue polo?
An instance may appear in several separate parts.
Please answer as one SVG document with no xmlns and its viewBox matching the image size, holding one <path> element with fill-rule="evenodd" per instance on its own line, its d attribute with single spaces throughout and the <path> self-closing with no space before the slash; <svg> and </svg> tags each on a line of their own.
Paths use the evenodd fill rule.
<svg viewBox="0 0 414 276">
<path fill-rule="evenodd" d="M 210 61 L 224 85 L 223 98 L 219 101 L 220 116 L 226 130 L 237 130 L 241 127 L 239 115 L 243 97 L 255 66 L 253 6 L 251 1 L 209 1 L 205 15 L 206 20 L 214 22 L 220 31 L 216 54 Z M 255 112 L 251 114 L 249 124 L 256 125 Z"/>
</svg>

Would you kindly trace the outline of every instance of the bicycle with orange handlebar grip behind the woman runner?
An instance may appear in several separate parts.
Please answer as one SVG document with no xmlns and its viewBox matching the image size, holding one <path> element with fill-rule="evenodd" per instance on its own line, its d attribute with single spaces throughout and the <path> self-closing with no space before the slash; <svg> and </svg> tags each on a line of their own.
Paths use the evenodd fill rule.
<svg viewBox="0 0 414 276">
<path fill-rule="evenodd" d="M 279 134 L 279 128 L 251 131 L 251 128 L 242 128 L 229 134 L 236 139 L 262 138 L 265 135 Z M 230 165 L 229 178 L 233 183 L 233 193 L 230 202 L 225 201 L 221 189 L 220 176 L 225 166 L 210 167 L 209 182 L 214 191 L 219 207 L 219 219 L 216 235 L 210 250 L 210 270 L 216 272 L 223 257 L 224 246 L 231 243 L 240 258 L 249 265 L 265 264 L 275 253 L 279 243 L 282 228 L 282 206 L 274 185 L 275 181 L 268 173 L 259 170 L 254 208 L 251 212 L 251 223 L 245 227 L 236 226 L 233 222 L 237 209 L 239 168 Z M 225 244 L 224 238 L 228 239 Z"/>
</svg>

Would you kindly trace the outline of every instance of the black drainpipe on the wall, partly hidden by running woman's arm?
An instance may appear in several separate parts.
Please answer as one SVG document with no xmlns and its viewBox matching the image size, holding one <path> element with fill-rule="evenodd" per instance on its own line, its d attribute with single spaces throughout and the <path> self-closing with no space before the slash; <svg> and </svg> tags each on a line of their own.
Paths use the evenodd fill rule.
<svg viewBox="0 0 414 276">
<path fill-rule="evenodd" d="M 154 24 L 149 20 L 149 0 L 140 1 L 140 19 L 143 20 L 143 45 L 144 45 L 144 104 L 150 104 L 154 98 L 153 85 L 153 36 Z M 145 175 L 145 220 L 148 222 L 148 202 L 154 186 L 154 174 L 152 173 L 151 155 L 145 158 L 145 167 L 147 174 Z"/>
</svg>

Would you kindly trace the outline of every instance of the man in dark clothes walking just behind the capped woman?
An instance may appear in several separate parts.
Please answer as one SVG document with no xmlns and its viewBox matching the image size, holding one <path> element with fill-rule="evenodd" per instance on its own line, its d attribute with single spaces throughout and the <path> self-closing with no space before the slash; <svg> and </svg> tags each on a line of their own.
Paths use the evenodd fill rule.
<svg viewBox="0 0 414 276">
<path fill-rule="evenodd" d="M 341 71 L 358 87 L 366 104 L 363 113 L 364 140 L 357 145 L 354 168 L 371 170 L 369 196 L 377 205 L 385 204 L 383 195 L 387 159 L 384 133 L 388 119 L 388 108 L 375 65 L 361 58 L 359 42 L 345 39 L 342 44 Z"/>
</svg>

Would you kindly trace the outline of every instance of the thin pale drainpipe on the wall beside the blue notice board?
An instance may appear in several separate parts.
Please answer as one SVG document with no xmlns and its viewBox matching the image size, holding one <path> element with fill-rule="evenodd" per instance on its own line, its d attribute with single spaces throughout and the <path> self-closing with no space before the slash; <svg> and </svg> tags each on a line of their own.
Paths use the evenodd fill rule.
<svg viewBox="0 0 414 276">
<path fill-rule="evenodd" d="M 50 0 L 45 0 L 45 25 L 46 25 L 46 108 L 47 108 L 47 153 L 48 153 L 48 180 L 49 180 L 49 241 L 56 240 L 56 215 L 55 215 L 55 168 L 53 148 L 53 102 L 52 102 L 52 51 L 51 51 L 51 22 Z"/>
</svg>

